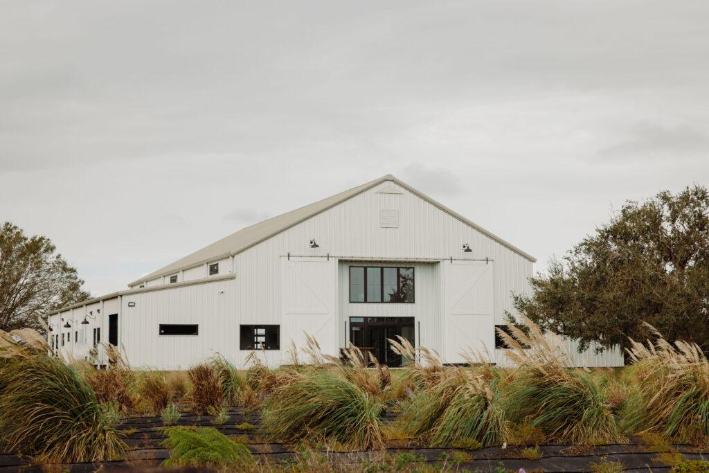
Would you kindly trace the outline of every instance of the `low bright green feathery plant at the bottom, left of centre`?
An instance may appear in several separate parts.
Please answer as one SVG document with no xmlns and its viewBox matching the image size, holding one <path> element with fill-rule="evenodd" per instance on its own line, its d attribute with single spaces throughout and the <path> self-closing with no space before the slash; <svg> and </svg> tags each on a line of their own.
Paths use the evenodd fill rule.
<svg viewBox="0 0 709 473">
<path fill-rule="evenodd" d="M 252 464 L 251 452 L 213 428 L 164 428 L 167 439 L 160 445 L 170 449 L 165 467 L 233 467 Z"/>
</svg>

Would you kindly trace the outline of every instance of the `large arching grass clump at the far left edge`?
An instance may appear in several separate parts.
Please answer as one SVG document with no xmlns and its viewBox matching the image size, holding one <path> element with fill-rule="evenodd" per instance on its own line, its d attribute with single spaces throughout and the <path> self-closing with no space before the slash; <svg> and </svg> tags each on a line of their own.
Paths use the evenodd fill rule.
<svg viewBox="0 0 709 473">
<path fill-rule="evenodd" d="M 0 432 L 11 450 L 48 462 L 99 462 L 125 445 L 82 374 L 34 330 L 0 330 Z"/>
</svg>

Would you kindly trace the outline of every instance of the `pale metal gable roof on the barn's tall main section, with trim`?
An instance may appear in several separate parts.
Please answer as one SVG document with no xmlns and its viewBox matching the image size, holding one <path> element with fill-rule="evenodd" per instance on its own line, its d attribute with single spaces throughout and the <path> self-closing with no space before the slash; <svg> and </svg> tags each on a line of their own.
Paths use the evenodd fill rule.
<svg viewBox="0 0 709 473">
<path fill-rule="evenodd" d="M 155 279 L 156 277 L 174 274 L 175 272 L 178 272 L 181 269 L 195 267 L 206 262 L 213 262 L 215 260 L 220 260 L 221 258 L 236 255 L 254 245 L 261 243 L 264 240 L 267 240 L 268 238 L 271 238 L 274 235 L 277 235 L 278 233 L 281 233 L 284 230 L 287 230 L 288 228 L 291 228 L 292 226 L 297 225 L 298 223 L 301 223 L 302 221 L 307 220 L 308 218 L 316 216 L 318 213 L 328 210 L 328 208 L 336 206 L 337 204 L 341 204 L 347 199 L 350 199 L 356 196 L 357 194 L 361 194 L 362 192 L 367 191 L 368 189 L 372 189 L 372 187 L 375 187 L 385 181 L 395 182 L 399 186 L 410 191 L 412 194 L 419 196 L 421 199 L 428 201 L 430 204 L 440 208 L 442 211 L 445 211 L 454 218 L 457 218 L 459 221 L 466 223 L 468 226 L 475 228 L 479 232 L 483 233 L 489 238 L 492 238 L 501 245 L 508 247 L 510 250 L 513 250 L 514 252 L 518 253 L 518 255 L 523 256 L 527 260 L 530 260 L 532 262 L 536 261 L 534 257 L 528 255 L 519 248 L 510 245 L 510 243 L 507 243 L 505 240 L 502 240 L 496 235 L 493 235 L 488 230 L 481 228 L 475 223 L 469 221 L 467 218 L 464 218 L 458 213 L 450 210 L 450 208 L 439 204 L 437 201 L 431 199 L 425 194 L 422 194 L 421 192 L 413 189 L 412 187 L 408 186 L 408 184 L 405 184 L 400 180 L 396 179 L 396 177 L 393 177 L 391 174 L 386 174 L 386 176 L 384 177 L 374 179 L 374 181 L 367 182 L 366 184 L 362 184 L 361 186 L 353 187 L 352 189 L 349 189 L 347 191 L 340 192 L 340 194 L 335 194 L 334 196 L 330 196 L 327 199 L 317 201 L 313 204 L 301 208 L 296 208 L 296 210 L 294 211 L 283 213 L 279 216 L 269 218 L 268 220 L 255 223 L 252 226 L 242 228 L 236 233 L 232 233 L 231 235 L 228 235 L 225 238 L 222 238 L 221 240 L 212 243 L 211 245 L 203 247 L 201 250 L 197 250 L 196 252 L 191 253 L 186 257 L 183 257 L 173 263 L 170 263 L 165 267 L 157 269 L 157 271 L 151 272 L 150 274 L 147 274 L 141 277 L 140 279 L 131 282 L 130 284 L 128 284 L 128 286 L 134 286 L 135 284 L 140 284 L 142 282 L 149 281 L 150 279 Z"/>
</svg>

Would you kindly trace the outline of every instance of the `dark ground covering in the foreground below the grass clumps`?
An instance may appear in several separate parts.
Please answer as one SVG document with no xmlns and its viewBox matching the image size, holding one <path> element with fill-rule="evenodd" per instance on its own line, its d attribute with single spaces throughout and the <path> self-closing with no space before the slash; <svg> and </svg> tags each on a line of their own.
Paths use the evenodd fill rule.
<svg viewBox="0 0 709 473">
<path fill-rule="evenodd" d="M 388 420 L 394 414 L 387 413 Z M 291 460 L 297 452 L 292 446 L 281 443 L 267 443 L 258 435 L 260 421 L 259 411 L 230 411 L 229 420 L 223 425 L 213 425 L 214 416 L 197 416 L 195 413 L 183 413 L 177 425 L 199 425 L 213 427 L 225 435 L 238 436 L 239 442 L 245 443 L 255 457 L 267 457 L 269 460 Z M 254 425 L 254 428 L 238 428 L 242 423 Z M 160 430 L 162 427 L 159 417 L 135 417 L 125 420 L 120 429 L 125 433 L 125 443 L 128 444 L 128 460 L 122 462 L 82 463 L 52 465 L 51 471 L 69 469 L 70 472 L 94 472 L 98 469 L 104 472 L 132 469 L 135 471 L 160 471 L 167 469 L 157 468 L 160 463 L 169 457 L 169 450 L 160 446 L 165 439 Z M 688 460 L 709 460 L 709 450 L 699 451 L 690 445 L 674 445 Z M 657 460 L 657 453 L 647 451 L 647 448 L 638 443 L 626 445 L 600 445 L 596 447 L 579 447 L 573 445 L 542 445 L 540 460 L 524 460 L 520 457 L 522 447 L 487 447 L 479 450 L 451 450 L 440 448 L 424 448 L 403 441 L 393 441 L 386 447 L 386 453 L 396 457 L 400 452 L 410 452 L 417 457 L 423 455 L 426 462 L 435 463 L 442 452 L 449 455 L 452 452 L 466 452 L 471 457 L 470 462 L 459 465 L 460 469 L 469 471 L 493 471 L 500 462 L 504 467 L 517 471 L 520 468 L 527 472 L 530 470 L 543 470 L 545 472 L 591 472 L 589 463 L 605 461 L 621 462 L 625 471 L 666 472 L 670 468 Z M 381 452 L 334 452 L 329 454 L 340 464 L 360 464 L 364 460 L 376 460 L 381 457 Z M 0 473 L 6 472 L 46 472 L 48 466 L 33 465 L 31 457 L 18 457 L 18 455 L 0 455 Z M 58 468 L 57 468 L 58 467 Z M 203 471 L 194 468 L 173 468 L 174 472 Z"/>
</svg>

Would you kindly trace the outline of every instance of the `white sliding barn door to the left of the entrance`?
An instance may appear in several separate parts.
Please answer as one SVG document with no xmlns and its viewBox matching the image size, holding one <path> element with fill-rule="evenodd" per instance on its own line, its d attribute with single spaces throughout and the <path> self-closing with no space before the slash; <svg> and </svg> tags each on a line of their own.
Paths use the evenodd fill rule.
<svg viewBox="0 0 709 473">
<path fill-rule="evenodd" d="M 288 350 L 293 340 L 300 352 L 306 346 L 306 332 L 318 340 L 325 354 L 337 355 L 337 263 L 284 257 L 281 270 L 281 350 Z"/>
</svg>

